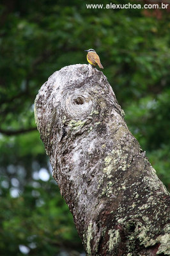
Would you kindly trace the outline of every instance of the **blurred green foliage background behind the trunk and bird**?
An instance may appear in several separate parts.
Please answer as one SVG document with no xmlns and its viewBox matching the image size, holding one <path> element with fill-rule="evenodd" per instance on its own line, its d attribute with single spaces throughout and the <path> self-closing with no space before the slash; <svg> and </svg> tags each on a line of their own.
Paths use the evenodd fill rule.
<svg viewBox="0 0 170 256">
<path fill-rule="evenodd" d="M 130 131 L 170 187 L 169 13 L 157 19 L 143 9 L 89 10 L 91 2 L 108 4 L 0 3 L 0 255 L 23 255 L 20 245 L 27 255 L 82 252 L 58 186 L 52 177 L 44 182 L 37 176 L 42 168 L 50 173 L 50 166 L 33 104 L 53 72 L 86 63 L 84 49 L 94 48 L 100 55 Z"/>
</svg>

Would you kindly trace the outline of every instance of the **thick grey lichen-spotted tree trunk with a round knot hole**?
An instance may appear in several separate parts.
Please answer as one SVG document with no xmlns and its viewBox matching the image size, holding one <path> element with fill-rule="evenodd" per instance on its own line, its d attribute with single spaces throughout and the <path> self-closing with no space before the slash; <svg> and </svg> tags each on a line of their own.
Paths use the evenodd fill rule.
<svg viewBox="0 0 170 256">
<path fill-rule="evenodd" d="M 169 194 L 123 115 L 91 65 L 55 72 L 35 100 L 54 179 L 87 255 L 169 255 Z"/>
</svg>

